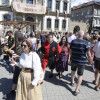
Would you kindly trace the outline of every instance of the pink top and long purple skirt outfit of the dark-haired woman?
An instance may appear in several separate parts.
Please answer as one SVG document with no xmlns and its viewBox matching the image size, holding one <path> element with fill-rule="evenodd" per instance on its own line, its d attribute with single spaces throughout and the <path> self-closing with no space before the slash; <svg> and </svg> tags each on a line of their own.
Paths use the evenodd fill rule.
<svg viewBox="0 0 100 100">
<path fill-rule="evenodd" d="M 64 72 L 68 71 L 68 57 L 69 57 L 69 45 L 67 46 L 61 46 L 62 53 L 59 56 L 59 60 L 56 65 L 56 71 L 57 72 Z"/>
</svg>

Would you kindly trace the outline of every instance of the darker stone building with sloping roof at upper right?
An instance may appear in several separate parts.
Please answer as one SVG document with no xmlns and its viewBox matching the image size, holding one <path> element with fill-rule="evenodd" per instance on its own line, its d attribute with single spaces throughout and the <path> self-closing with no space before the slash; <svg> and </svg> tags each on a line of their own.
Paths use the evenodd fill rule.
<svg viewBox="0 0 100 100">
<path fill-rule="evenodd" d="M 75 6 L 71 13 L 70 26 L 75 27 L 76 24 L 85 32 L 100 32 L 100 1 L 91 1 Z M 70 29 L 72 28 L 70 27 Z"/>
</svg>

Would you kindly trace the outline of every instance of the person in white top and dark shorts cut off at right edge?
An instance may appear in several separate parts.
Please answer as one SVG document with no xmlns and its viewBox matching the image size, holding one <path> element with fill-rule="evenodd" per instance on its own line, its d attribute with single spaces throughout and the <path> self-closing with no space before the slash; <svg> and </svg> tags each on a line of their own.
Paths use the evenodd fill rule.
<svg viewBox="0 0 100 100">
<path fill-rule="evenodd" d="M 95 44 L 93 51 L 94 51 L 94 54 L 95 54 L 95 68 L 96 68 L 95 80 L 93 81 L 93 83 L 96 85 L 98 75 L 99 75 L 99 72 L 100 72 L 100 38 L 98 39 L 98 42 Z M 99 78 L 98 85 L 95 87 L 96 91 L 99 91 L 99 88 L 100 88 L 100 78 Z"/>
</svg>

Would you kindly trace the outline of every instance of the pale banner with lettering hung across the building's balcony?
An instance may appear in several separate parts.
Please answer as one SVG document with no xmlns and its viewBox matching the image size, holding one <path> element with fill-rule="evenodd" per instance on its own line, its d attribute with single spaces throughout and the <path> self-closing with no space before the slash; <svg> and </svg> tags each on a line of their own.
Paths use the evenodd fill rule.
<svg viewBox="0 0 100 100">
<path fill-rule="evenodd" d="M 13 1 L 12 10 L 19 13 L 27 14 L 46 14 L 46 7 L 42 5 L 34 5 Z"/>
</svg>

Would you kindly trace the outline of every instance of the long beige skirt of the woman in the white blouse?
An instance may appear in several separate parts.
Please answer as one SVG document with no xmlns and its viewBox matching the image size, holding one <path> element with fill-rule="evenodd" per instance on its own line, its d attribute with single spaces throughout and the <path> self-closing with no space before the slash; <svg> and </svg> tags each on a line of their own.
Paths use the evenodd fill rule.
<svg viewBox="0 0 100 100">
<path fill-rule="evenodd" d="M 33 73 L 21 72 L 18 79 L 16 100 L 43 100 L 41 86 L 31 84 Z"/>
</svg>

